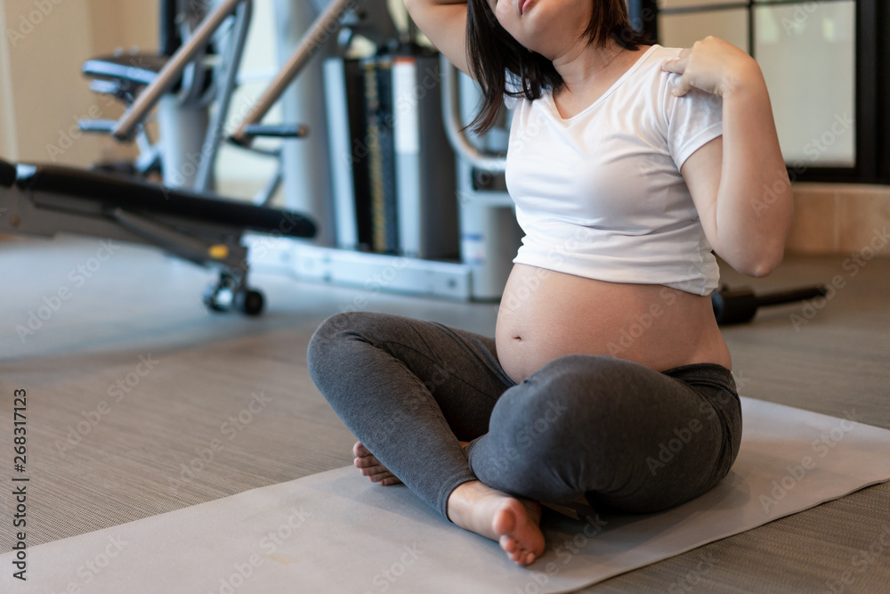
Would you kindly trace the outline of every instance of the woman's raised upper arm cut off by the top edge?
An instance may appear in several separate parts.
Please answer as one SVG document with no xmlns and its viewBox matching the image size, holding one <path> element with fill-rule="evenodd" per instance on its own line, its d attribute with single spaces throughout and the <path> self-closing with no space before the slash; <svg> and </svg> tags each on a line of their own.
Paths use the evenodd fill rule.
<svg viewBox="0 0 890 594">
<path fill-rule="evenodd" d="M 405 7 L 436 49 L 473 77 L 466 62 L 466 0 L 405 0 Z"/>
</svg>

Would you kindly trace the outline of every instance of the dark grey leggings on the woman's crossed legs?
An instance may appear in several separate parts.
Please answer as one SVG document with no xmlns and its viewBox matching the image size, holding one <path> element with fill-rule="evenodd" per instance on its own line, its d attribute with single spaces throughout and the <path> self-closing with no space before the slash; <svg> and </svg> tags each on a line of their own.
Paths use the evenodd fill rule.
<svg viewBox="0 0 890 594">
<path fill-rule="evenodd" d="M 739 396 L 716 363 L 659 372 L 569 354 L 516 384 L 492 338 L 358 312 L 321 324 L 309 370 L 352 434 L 446 518 L 450 493 L 477 478 L 534 500 L 659 511 L 707 492 L 739 453 Z"/>
</svg>

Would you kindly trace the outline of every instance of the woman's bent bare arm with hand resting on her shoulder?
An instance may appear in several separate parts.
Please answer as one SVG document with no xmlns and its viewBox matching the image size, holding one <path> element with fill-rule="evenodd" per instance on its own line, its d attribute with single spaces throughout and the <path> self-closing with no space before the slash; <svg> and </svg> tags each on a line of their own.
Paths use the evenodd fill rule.
<svg viewBox="0 0 890 594">
<path fill-rule="evenodd" d="M 679 94 L 696 86 L 723 97 L 723 136 L 692 153 L 680 169 L 708 242 L 740 273 L 773 272 L 794 206 L 760 68 L 747 53 L 714 37 L 664 68 L 684 73 Z"/>
</svg>

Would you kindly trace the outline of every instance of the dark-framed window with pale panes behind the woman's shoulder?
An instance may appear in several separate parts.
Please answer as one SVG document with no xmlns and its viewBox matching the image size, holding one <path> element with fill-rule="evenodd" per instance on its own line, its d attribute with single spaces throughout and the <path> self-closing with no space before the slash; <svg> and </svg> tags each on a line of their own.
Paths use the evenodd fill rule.
<svg viewBox="0 0 890 594">
<path fill-rule="evenodd" d="M 890 183 L 886 0 L 628 0 L 659 44 L 714 35 L 764 72 L 792 181 Z"/>
</svg>

